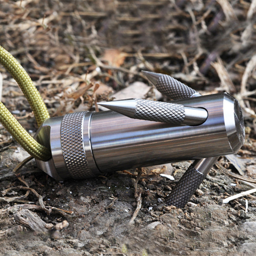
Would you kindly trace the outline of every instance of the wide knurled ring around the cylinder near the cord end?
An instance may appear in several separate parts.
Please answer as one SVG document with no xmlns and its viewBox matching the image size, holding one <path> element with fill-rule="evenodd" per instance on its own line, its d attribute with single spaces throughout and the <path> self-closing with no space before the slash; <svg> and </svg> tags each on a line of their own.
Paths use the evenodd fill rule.
<svg viewBox="0 0 256 256">
<path fill-rule="evenodd" d="M 83 144 L 83 120 L 86 112 L 67 114 L 61 123 L 61 147 L 67 170 L 73 179 L 93 177 Z"/>
</svg>

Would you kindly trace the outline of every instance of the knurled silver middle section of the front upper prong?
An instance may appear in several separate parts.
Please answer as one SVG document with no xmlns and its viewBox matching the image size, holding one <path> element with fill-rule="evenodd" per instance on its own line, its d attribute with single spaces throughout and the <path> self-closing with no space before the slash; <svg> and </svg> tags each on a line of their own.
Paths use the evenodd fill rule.
<svg viewBox="0 0 256 256">
<path fill-rule="evenodd" d="M 180 124 L 185 118 L 185 107 L 181 104 L 138 99 L 134 118 Z"/>
</svg>

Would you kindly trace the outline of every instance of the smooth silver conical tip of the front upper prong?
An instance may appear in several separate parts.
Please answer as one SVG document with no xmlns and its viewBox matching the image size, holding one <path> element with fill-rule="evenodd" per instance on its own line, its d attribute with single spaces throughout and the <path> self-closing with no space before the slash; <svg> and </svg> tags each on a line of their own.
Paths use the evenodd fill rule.
<svg viewBox="0 0 256 256">
<path fill-rule="evenodd" d="M 115 100 L 108 102 L 100 102 L 98 105 L 113 110 L 119 114 L 133 117 L 137 100 L 135 99 L 127 99 L 127 100 Z"/>
</svg>

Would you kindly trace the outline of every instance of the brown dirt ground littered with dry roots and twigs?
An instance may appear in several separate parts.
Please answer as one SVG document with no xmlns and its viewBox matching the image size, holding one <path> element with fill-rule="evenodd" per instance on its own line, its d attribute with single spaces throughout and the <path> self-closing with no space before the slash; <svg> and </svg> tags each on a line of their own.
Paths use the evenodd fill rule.
<svg viewBox="0 0 256 256">
<path fill-rule="evenodd" d="M 0 0 L 0 6 L 0 44 L 27 70 L 51 116 L 98 111 L 95 103 L 116 93 L 138 97 L 131 85 L 148 85 L 141 70 L 149 70 L 202 94 L 233 94 L 246 126 L 238 156 L 221 157 L 177 209 L 164 201 L 190 162 L 57 182 L 34 160 L 14 173 L 28 154 L 0 125 L 0 255 L 256 254 L 256 197 L 222 203 L 256 188 L 255 0 Z M 2 66 L 0 74 L 2 102 L 35 134 L 26 98 Z M 167 100 L 144 88 L 142 98 Z"/>
</svg>

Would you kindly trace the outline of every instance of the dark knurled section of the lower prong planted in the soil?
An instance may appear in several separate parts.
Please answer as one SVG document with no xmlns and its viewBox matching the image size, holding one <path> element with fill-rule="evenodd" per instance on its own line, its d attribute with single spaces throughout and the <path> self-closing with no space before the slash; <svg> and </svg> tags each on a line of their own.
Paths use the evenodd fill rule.
<svg viewBox="0 0 256 256">
<path fill-rule="evenodd" d="M 183 208 L 204 178 L 204 174 L 199 173 L 190 165 L 188 170 L 183 174 L 177 185 L 171 191 L 171 194 L 167 197 L 166 203 L 168 205 L 175 205 L 178 208 Z"/>
</svg>

